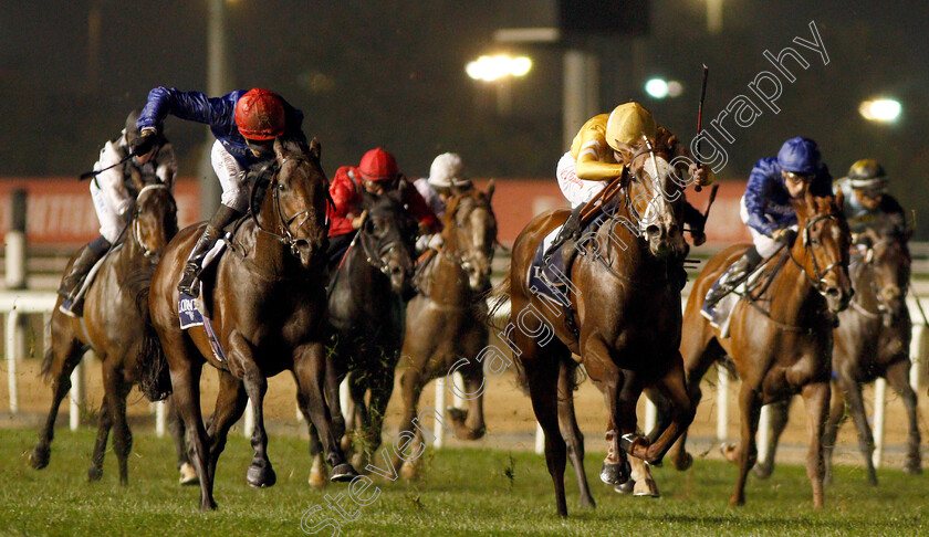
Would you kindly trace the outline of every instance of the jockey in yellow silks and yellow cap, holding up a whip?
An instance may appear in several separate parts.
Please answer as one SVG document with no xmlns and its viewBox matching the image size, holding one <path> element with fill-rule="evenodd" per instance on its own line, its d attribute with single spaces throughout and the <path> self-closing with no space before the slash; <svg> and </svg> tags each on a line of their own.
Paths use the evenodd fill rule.
<svg viewBox="0 0 929 537">
<path fill-rule="evenodd" d="M 664 127 L 655 124 L 651 113 L 633 102 L 617 106 L 609 114 L 594 116 L 581 127 L 571 144 L 571 150 L 559 160 L 559 187 L 571 202 L 572 211 L 557 238 L 545 251 L 546 263 L 565 241 L 581 234 L 581 210 L 584 206 L 623 175 L 627 162 L 620 149 L 638 144 L 643 135 L 655 138 L 659 128 Z M 681 147 L 678 151 L 685 154 L 686 149 Z M 689 171 L 691 176 L 697 176 L 698 185 L 707 186 L 713 181 L 712 171 L 707 166 L 693 165 Z M 685 220 L 693 230 L 693 242 L 702 244 L 706 241 L 702 214 L 689 203 L 687 208 Z"/>
</svg>

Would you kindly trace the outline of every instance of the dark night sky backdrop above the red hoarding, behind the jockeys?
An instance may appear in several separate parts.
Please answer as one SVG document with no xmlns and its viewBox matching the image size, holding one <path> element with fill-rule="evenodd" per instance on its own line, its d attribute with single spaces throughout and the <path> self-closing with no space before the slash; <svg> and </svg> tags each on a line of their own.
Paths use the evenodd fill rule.
<svg viewBox="0 0 929 537">
<path fill-rule="evenodd" d="M 539 2 L 544 4 L 544 2 Z M 100 61 L 88 53 L 88 15 L 100 7 Z M 857 158 L 886 164 L 893 191 L 921 209 L 929 161 L 929 7 L 922 1 L 724 0 L 724 31 L 707 35 L 702 0 L 654 0 L 650 34 L 596 38 L 601 105 L 629 98 L 649 106 L 682 137 L 693 134 L 700 64 L 710 67 L 704 122 L 762 70 L 762 56 L 811 39 L 815 21 L 829 64 L 806 49 L 808 70 L 784 83 L 782 108 L 733 128 L 723 177 L 745 177 L 781 143 L 820 141 L 837 177 Z M 155 85 L 203 90 L 206 0 L 50 0 L 0 3 L 0 175 L 76 175 L 116 135 L 125 114 Z M 530 76 L 514 83 L 512 115 L 498 117 L 493 93 L 467 77 L 467 61 L 488 51 L 501 27 L 544 24 L 552 9 L 531 1 L 261 1 L 228 4 L 233 87 L 270 87 L 306 114 L 323 143 L 327 171 L 375 146 L 393 150 L 413 176 L 438 152 L 458 150 L 474 176 L 547 177 L 561 141 L 561 60 L 556 48 L 524 48 Z M 651 75 L 685 84 L 676 99 L 641 90 Z M 904 105 L 896 125 L 865 122 L 857 104 L 879 94 Z M 169 122 L 168 135 L 194 175 L 203 130 Z M 923 211 L 925 212 L 925 211 Z"/>
</svg>

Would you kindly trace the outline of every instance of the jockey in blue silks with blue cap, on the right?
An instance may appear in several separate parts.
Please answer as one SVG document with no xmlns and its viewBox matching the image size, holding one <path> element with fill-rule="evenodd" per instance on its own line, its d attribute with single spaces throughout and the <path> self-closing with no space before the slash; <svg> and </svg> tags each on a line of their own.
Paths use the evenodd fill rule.
<svg viewBox="0 0 929 537">
<path fill-rule="evenodd" d="M 822 161 L 820 148 L 810 138 L 791 138 L 777 151 L 777 158 L 763 158 L 755 164 L 740 211 L 754 244 L 707 293 L 702 309 L 706 317 L 714 320 L 716 304 L 745 280 L 763 259 L 793 242 L 796 213 L 791 199 L 803 199 L 807 190 L 813 196 L 832 196 L 832 176 Z"/>
</svg>

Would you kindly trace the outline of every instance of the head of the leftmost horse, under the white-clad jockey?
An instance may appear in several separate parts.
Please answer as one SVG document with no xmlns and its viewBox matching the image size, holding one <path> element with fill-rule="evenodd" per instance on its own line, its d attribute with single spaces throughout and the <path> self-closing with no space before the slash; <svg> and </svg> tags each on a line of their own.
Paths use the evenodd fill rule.
<svg viewBox="0 0 929 537">
<path fill-rule="evenodd" d="M 132 232 L 144 255 L 157 262 L 177 234 L 177 204 L 164 183 L 145 186 L 138 192 Z"/>
</svg>

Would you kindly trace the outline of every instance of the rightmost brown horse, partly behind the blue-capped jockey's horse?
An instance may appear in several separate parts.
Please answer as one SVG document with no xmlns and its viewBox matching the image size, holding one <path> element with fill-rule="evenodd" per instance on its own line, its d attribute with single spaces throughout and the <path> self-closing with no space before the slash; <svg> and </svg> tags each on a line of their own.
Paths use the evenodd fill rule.
<svg viewBox="0 0 929 537">
<path fill-rule="evenodd" d="M 909 442 L 904 471 L 918 474 L 920 468 L 919 422 L 916 392 L 909 385 L 909 347 L 912 322 L 906 306 L 910 281 L 909 232 L 868 230 L 870 248 L 865 255 L 854 255 L 848 265 L 855 297 L 852 307 L 838 314 L 833 346 L 833 404 L 826 421 L 825 483 L 832 480 L 832 453 L 836 433 L 848 413 L 858 430 L 858 446 L 865 459 L 867 480 L 877 485 L 871 454 L 874 435 L 865 413 L 862 385 L 884 377 L 900 394 L 907 411 Z M 848 413 L 846 413 L 846 407 Z M 774 467 L 777 440 L 787 423 L 790 400 L 771 406 L 771 433 L 768 457 L 755 467 L 755 475 L 768 477 Z"/>
</svg>

